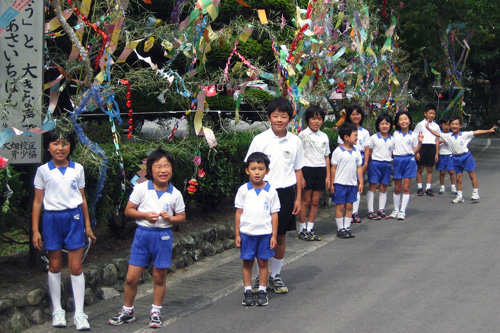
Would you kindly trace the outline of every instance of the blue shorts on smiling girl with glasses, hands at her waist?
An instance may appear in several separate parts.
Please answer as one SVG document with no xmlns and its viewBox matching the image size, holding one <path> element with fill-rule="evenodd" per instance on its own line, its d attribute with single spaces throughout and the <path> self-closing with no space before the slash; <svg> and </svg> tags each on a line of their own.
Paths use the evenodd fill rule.
<svg viewBox="0 0 500 333">
<path fill-rule="evenodd" d="M 138 226 L 130 250 L 129 264 L 147 267 L 151 260 L 156 268 L 169 268 L 172 262 L 172 228 Z"/>
</svg>

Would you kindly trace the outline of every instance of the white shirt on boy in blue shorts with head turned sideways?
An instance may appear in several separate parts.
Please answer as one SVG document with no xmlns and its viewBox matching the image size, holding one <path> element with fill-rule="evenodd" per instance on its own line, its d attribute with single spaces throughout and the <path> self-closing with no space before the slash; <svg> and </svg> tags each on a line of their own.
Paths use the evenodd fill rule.
<svg viewBox="0 0 500 333">
<path fill-rule="evenodd" d="M 335 148 L 332 154 L 331 164 L 337 166 L 335 172 L 335 184 L 358 185 L 358 166 L 361 166 L 363 159 L 356 147 L 347 150 L 343 146 Z"/>
</svg>

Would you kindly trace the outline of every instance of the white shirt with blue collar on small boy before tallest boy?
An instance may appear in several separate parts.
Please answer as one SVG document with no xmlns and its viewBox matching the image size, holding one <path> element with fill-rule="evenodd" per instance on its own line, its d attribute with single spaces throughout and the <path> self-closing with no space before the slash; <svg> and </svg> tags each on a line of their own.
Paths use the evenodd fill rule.
<svg viewBox="0 0 500 333">
<path fill-rule="evenodd" d="M 278 192 L 269 183 L 262 189 L 256 189 L 248 182 L 238 189 L 234 207 L 243 209 L 240 232 L 258 236 L 273 233 L 271 214 L 279 212 L 281 205 Z"/>
</svg>

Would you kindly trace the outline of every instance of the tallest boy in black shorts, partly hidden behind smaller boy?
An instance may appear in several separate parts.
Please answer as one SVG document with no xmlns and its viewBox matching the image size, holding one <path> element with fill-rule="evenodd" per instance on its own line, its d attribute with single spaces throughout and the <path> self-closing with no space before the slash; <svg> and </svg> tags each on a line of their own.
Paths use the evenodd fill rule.
<svg viewBox="0 0 500 333">
<path fill-rule="evenodd" d="M 271 128 L 253 138 L 245 158 L 246 161 L 248 156 L 256 151 L 263 152 L 269 157 L 270 170 L 264 179 L 276 189 L 280 198 L 278 237 L 269 276 L 269 285 L 278 294 L 288 292 L 288 287 L 281 278 L 286 233 L 296 230 L 295 215 L 300 212 L 302 200 L 300 189 L 302 189 L 304 151 L 299 137 L 287 130 L 292 116 L 293 106 L 287 99 L 278 97 L 269 102 L 267 118 L 271 122 Z"/>
</svg>

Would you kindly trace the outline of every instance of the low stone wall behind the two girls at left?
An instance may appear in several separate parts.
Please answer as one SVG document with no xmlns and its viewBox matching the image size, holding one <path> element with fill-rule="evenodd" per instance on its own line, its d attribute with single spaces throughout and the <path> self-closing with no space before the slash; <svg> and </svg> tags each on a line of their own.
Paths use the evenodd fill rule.
<svg viewBox="0 0 500 333">
<path fill-rule="evenodd" d="M 177 239 L 175 239 L 177 238 Z M 172 267 L 169 272 L 190 266 L 206 256 L 234 248 L 234 223 L 225 222 L 192 234 L 174 237 Z M 90 250 L 92 251 L 92 249 Z M 84 265 L 85 306 L 100 300 L 119 297 L 124 290 L 128 259 L 117 258 L 104 265 Z M 144 270 L 141 284 L 152 282 L 153 267 Z M 62 306 L 74 311 L 69 274 L 63 274 Z M 2 332 L 21 332 L 32 325 L 52 320 L 52 306 L 46 280 L 28 288 L 17 288 L 0 296 L 0 327 Z"/>
</svg>

